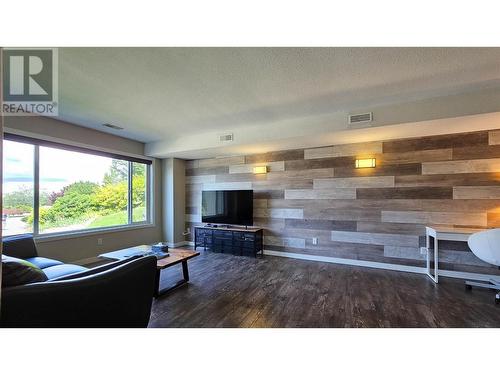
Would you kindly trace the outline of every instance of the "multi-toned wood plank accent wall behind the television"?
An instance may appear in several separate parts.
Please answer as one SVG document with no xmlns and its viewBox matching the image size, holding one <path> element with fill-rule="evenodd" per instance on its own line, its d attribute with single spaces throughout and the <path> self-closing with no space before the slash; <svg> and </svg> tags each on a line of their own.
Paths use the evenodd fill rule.
<svg viewBox="0 0 500 375">
<path fill-rule="evenodd" d="M 186 226 L 217 189 L 254 190 L 266 249 L 424 266 L 426 224 L 500 226 L 500 130 L 188 161 Z M 465 243 L 440 246 L 444 269 L 500 274 Z"/>
</svg>

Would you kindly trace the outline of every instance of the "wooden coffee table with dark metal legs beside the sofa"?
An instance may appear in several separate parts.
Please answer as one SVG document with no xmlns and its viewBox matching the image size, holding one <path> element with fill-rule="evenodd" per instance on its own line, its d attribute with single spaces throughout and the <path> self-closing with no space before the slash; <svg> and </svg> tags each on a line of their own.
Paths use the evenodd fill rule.
<svg viewBox="0 0 500 375">
<path fill-rule="evenodd" d="M 140 246 L 130 247 L 128 249 L 122 249 L 122 250 L 112 251 L 112 252 L 105 253 L 105 254 L 100 254 L 99 257 L 107 258 L 107 259 L 122 260 L 122 259 L 141 256 L 140 255 L 141 252 L 147 252 L 149 250 L 151 250 L 151 246 L 140 245 Z M 175 249 L 168 249 L 168 253 L 170 254 L 170 256 L 163 258 L 163 259 L 159 259 L 156 261 L 156 281 L 155 281 L 155 297 L 156 298 L 164 295 L 165 293 L 168 293 L 172 289 L 175 289 L 181 285 L 187 284 L 189 282 L 189 271 L 188 271 L 188 267 L 187 267 L 187 262 L 189 259 L 192 259 L 192 258 L 200 255 L 200 253 L 197 251 L 187 249 L 187 248 L 182 248 L 182 247 L 178 247 Z M 178 282 L 176 282 L 173 286 L 160 289 L 161 270 L 175 266 L 176 264 L 179 264 L 179 263 L 182 264 L 183 278 L 181 280 L 179 280 Z"/>
</svg>

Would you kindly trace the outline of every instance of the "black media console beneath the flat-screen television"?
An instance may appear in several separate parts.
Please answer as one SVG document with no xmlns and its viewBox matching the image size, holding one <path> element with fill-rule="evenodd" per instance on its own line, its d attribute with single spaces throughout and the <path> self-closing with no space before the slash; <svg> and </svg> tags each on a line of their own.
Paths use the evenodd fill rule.
<svg viewBox="0 0 500 375">
<path fill-rule="evenodd" d="M 194 248 L 239 255 L 264 255 L 263 232 L 262 228 L 197 226 L 194 228 Z"/>
</svg>

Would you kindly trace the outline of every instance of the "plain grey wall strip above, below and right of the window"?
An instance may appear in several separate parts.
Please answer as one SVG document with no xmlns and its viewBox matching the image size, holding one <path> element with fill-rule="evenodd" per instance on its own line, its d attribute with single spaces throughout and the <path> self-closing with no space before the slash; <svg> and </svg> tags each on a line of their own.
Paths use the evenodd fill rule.
<svg viewBox="0 0 500 375">
<path fill-rule="evenodd" d="M 95 130 L 86 129 L 52 118 L 9 117 L 5 126 L 9 129 L 27 132 L 31 135 L 51 137 L 83 145 L 116 150 L 123 153 L 144 155 L 144 144 L 130 139 L 116 137 Z M 37 242 L 41 256 L 62 261 L 76 261 L 94 257 L 102 252 L 147 244 L 162 240 L 162 192 L 161 162 L 155 160 L 153 171 L 154 223 L 141 229 L 128 229 L 118 232 L 101 232 L 78 235 L 72 238 L 51 238 Z M 98 245 L 102 239 L 102 245 Z"/>
</svg>

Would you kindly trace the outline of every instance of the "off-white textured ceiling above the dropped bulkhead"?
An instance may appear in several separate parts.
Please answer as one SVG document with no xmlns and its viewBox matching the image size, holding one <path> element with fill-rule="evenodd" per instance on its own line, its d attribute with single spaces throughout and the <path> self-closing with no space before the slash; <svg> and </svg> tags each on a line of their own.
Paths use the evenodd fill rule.
<svg viewBox="0 0 500 375">
<path fill-rule="evenodd" d="M 161 141 L 498 87 L 499 61 L 500 48 L 60 48 L 59 113 Z"/>
</svg>

